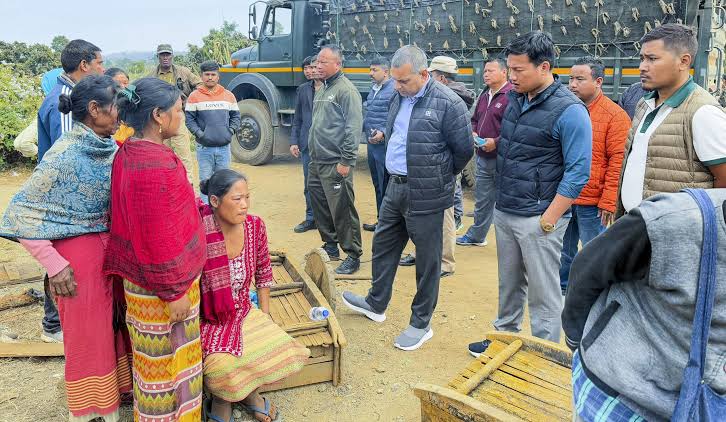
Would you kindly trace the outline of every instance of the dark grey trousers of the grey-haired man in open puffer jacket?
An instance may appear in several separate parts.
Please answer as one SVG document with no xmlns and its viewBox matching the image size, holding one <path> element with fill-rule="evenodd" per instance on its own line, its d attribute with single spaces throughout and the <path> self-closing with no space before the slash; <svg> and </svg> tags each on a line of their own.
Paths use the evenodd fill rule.
<svg viewBox="0 0 726 422">
<path fill-rule="evenodd" d="M 408 185 L 389 180 L 373 235 L 373 282 L 366 296 L 374 311 L 385 312 L 391 301 L 398 261 L 410 238 L 418 249 L 410 324 L 428 327 L 439 298 L 443 224 L 444 211 L 410 215 Z"/>
</svg>

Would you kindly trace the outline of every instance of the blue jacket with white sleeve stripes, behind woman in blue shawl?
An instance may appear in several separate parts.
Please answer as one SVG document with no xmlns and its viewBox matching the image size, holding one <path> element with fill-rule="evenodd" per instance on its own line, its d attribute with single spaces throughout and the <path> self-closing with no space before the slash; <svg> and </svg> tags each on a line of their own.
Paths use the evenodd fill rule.
<svg viewBox="0 0 726 422">
<path fill-rule="evenodd" d="M 71 130 L 73 119 L 71 113 L 58 111 L 58 98 L 61 94 L 71 95 L 75 84 L 65 74 L 58 76 L 58 82 L 38 110 L 38 162 L 64 133 Z"/>
</svg>

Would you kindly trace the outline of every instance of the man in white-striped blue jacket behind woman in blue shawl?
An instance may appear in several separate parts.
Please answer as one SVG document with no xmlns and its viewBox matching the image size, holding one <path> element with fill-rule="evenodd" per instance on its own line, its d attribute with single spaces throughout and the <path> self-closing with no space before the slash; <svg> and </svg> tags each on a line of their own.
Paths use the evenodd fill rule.
<svg viewBox="0 0 726 422">
<path fill-rule="evenodd" d="M 58 110 L 58 98 L 61 94 L 71 95 L 73 87 L 88 75 L 103 75 L 103 57 L 101 49 L 85 40 L 69 42 L 61 52 L 63 73 L 58 76 L 57 83 L 45 97 L 38 110 L 38 162 L 53 146 L 53 143 L 71 130 L 73 121 L 71 113 L 63 114 Z M 63 342 L 63 331 L 60 325 L 58 309 L 53 303 L 48 289 L 48 276 L 45 276 L 45 301 L 43 311 L 43 334 L 40 338 L 46 343 Z"/>
</svg>

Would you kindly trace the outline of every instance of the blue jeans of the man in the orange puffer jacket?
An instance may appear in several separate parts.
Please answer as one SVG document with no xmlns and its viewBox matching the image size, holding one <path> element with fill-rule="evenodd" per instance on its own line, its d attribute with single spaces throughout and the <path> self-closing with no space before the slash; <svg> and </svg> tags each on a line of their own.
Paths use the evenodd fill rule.
<svg viewBox="0 0 726 422">
<path fill-rule="evenodd" d="M 562 291 L 567 290 L 570 278 L 570 266 L 577 255 L 577 244 L 587 242 L 596 238 L 605 231 L 600 217 L 597 215 L 598 207 L 595 205 L 573 205 L 572 219 L 567 226 L 565 238 L 562 243 L 562 257 L 560 258 L 560 287 Z"/>
</svg>

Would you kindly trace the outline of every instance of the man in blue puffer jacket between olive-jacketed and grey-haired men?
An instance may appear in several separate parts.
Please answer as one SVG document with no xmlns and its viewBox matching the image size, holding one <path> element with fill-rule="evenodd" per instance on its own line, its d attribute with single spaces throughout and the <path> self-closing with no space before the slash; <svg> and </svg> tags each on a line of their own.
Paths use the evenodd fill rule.
<svg viewBox="0 0 726 422">
<path fill-rule="evenodd" d="M 376 190 L 376 216 L 381 212 L 383 193 L 388 180 L 386 178 L 386 146 L 383 132 L 386 130 L 388 104 L 393 97 L 393 81 L 390 77 L 390 65 L 384 58 L 371 62 L 370 77 L 373 86 L 368 98 L 363 103 L 363 133 L 368 138 L 368 169 Z M 376 231 L 376 224 L 363 224 L 363 230 Z"/>
</svg>

